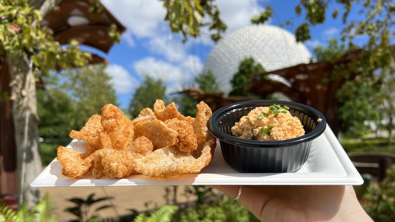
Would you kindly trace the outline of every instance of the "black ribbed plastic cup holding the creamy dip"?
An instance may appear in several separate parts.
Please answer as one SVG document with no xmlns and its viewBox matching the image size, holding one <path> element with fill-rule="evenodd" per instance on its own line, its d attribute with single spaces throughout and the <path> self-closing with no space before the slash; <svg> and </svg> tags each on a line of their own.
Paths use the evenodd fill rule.
<svg viewBox="0 0 395 222">
<path fill-rule="evenodd" d="M 231 127 L 252 109 L 273 104 L 288 106 L 291 115 L 299 118 L 305 134 L 278 141 L 241 139 L 232 134 Z M 318 110 L 281 100 L 251 100 L 230 104 L 216 110 L 208 122 L 210 133 L 219 139 L 226 163 L 243 173 L 284 173 L 300 169 L 307 161 L 311 141 L 319 137 L 326 126 L 325 117 Z"/>
</svg>

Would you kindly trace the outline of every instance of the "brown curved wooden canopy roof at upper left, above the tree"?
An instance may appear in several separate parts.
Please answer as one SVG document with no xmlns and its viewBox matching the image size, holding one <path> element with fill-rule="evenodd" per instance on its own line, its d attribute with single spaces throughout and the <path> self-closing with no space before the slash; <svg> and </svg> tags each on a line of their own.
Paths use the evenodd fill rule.
<svg viewBox="0 0 395 222">
<path fill-rule="evenodd" d="M 108 30 L 115 24 L 120 33 L 126 27 L 119 22 L 104 6 L 98 13 L 90 12 L 89 0 L 63 0 L 58 4 L 58 10 L 48 14 L 41 22 L 54 33 L 55 41 L 61 45 L 68 44 L 74 39 L 78 43 L 108 53 L 113 45 Z M 106 62 L 100 55 L 93 54 L 91 63 Z"/>
</svg>

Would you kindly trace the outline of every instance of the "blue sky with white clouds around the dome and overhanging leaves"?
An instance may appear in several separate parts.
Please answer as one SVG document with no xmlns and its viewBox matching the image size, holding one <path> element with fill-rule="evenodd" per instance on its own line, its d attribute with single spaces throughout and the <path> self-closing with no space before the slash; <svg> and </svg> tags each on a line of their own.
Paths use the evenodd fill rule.
<svg viewBox="0 0 395 222">
<path fill-rule="evenodd" d="M 215 46 L 210 40 L 210 32 L 203 29 L 199 38 L 183 44 L 181 34 L 173 34 L 164 21 L 166 10 L 159 0 L 101 0 L 103 5 L 126 27 L 122 43 L 114 45 L 106 58 L 109 65 L 107 72 L 112 76 L 112 83 L 121 108 L 127 108 L 133 92 L 140 85 L 144 75 L 161 79 L 168 92 L 190 85 L 193 78 L 202 72 L 206 58 Z M 268 24 L 279 26 L 286 20 L 293 25 L 284 26 L 294 33 L 297 25 L 304 21 L 295 15 L 295 0 L 216 0 L 221 12 L 221 19 L 227 24 L 225 33 L 251 25 L 253 15 L 263 11 L 269 4 L 273 8 L 273 18 Z M 331 5 L 331 12 L 336 6 Z M 341 12 L 341 11 L 340 11 Z M 339 13 L 339 15 L 341 15 Z M 357 15 L 351 14 L 351 17 Z M 315 46 L 326 46 L 331 38 L 339 38 L 343 25 L 341 16 L 333 20 L 327 15 L 323 25 L 311 27 L 311 40 L 304 45 L 312 52 Z"/>
</svg>

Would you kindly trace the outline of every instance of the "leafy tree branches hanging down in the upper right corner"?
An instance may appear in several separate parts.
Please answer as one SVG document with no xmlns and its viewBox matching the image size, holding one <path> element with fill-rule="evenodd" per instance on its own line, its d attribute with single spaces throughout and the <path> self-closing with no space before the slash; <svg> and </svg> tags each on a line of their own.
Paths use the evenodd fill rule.
<svg viewBox="0 0 395 222">
<path fill-rule="evenodd" d="M 331 12 L 331 16 L 336 19 L 342 12 L 342 22 L 344 28 L 341 32 L 341 41 L 348 44 L 347 48 L 355 46 L 355 39 L 358 36 L 368 36 L 366 43 L 360 47 L 363 49 L 362 55 L 355 61 L 354 67 L 362 71 L 366 78 L 385 78 L 384 75 L 375 76 L 374 71 L 394 66 L 395 53 L 391 46 L 391 40 L 395 34 L 393 16 L 395 15 L 395 5 L 392 0 L 344 0 L 344 1 L 306 1 L 300 0 L 295 7 L 298 16 L 304 15 L 304 22 L 295 29 L 297 42 L 305 42 L 311 38 L 310 27 L 325 22 L 329 4 L 337 4 Z M 356 5 L 361 6 L 358 14 L 363 15 L 365 20 L 349 20 L 348 15 Z M 341 9 L 342 8 L 342 9 Z M 272 16 L 272 8 L 268 5 L 259 15 L 255 15 L 251 22 L 262 24 Z M 292 24 L 287 20 L 284 25 Z"/>
</svg>

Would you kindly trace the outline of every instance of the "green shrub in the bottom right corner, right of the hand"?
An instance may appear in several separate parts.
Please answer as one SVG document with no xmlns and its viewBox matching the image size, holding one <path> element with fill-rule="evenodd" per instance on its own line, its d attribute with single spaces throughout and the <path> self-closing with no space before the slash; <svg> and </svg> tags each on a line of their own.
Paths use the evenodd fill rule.
<svg viewBox="0 0 395 222">
<path fill-rule="evenodd" d="M 379 183 L 370 183 L 362 197 L 362 206 L 376 222 L 395 221 L 395 165 Z"/>
</svg>

